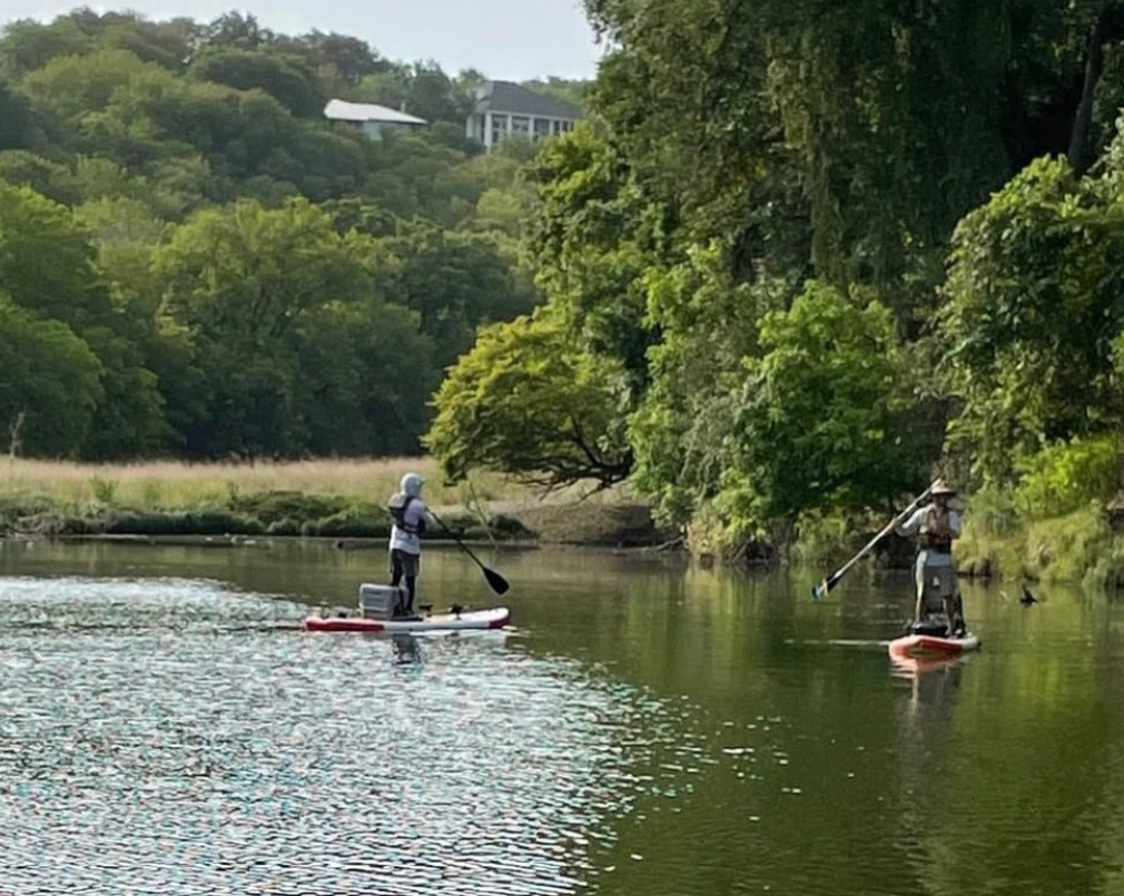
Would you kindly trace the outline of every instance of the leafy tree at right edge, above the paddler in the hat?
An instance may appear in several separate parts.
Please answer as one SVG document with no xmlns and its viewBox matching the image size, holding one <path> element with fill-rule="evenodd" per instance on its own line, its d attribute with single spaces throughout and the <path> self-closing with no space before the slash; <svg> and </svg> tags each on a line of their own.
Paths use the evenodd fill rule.
<svg viewBox="0 0 1124 896">
<path fill-rule="evenodd" d="M 1124 395 L 1121 138 L 1103 178 L 1041 160 L 964 218 L 940 315 L 952 447 L 987 480 L 1010 481 L 1049 443 L 1115 431 Z"/>
</svg>

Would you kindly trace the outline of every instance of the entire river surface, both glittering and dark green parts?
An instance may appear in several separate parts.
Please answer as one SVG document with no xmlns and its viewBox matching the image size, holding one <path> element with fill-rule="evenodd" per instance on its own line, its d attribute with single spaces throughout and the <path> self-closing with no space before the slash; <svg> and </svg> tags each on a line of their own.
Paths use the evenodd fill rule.
<svg viewBox="0 0 1124 896">
<path fill-rule="evenodd" d="M 375 551 L 0 547 L 0 894 L 1124 893 L 1124 609 L 491 554 L 516 627 L 312 635 Z M 491 603 L 432 550 L 424 600 Z"/>
</svg>

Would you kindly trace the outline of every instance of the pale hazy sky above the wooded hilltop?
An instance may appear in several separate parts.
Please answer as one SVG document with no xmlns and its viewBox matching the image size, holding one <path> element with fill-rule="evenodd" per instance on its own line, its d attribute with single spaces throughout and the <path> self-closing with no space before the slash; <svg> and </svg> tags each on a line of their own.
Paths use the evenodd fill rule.
<svg viewBox="0 0 1124 896">
<path fill-rule="evenodd" d="M 250 6 L 245 0 L 0 0 L 0 25 L 51 20 L 79 6 L 198 21 L 237 9 L 273 31 L 338 31 L 366 40 L 390 60 L 432 58 L 448 74 L 474 67 L 498 80 L 592 78 L 600 56 L 581 0 L 256 0 Z"/>
</svg>

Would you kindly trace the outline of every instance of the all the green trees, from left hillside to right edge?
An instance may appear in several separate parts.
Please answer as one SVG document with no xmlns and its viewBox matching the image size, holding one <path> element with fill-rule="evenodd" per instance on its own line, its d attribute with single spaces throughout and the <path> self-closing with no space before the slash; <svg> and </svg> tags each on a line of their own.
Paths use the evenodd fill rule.
<svg viewBox="0 0 1124 896">
<path fill-rule="evenodd" d="M 488 155 L 482 75 L 355 38 L 9 25 L 12 450 L 413 451 L 436 395 L 451 477 L 628 478 L 732 543 L 939 465 L 1003 513 L 1121 491 L 1124 2 L 586 7 L 596 82 L 536 87 L 588 121 Z"/>
</svg>

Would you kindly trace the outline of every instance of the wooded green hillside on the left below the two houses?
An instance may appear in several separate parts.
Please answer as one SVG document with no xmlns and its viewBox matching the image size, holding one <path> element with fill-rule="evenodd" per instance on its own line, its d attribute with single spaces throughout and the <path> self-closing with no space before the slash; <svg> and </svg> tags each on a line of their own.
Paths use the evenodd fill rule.
<svg viewBox="0 0 1124 896">
<path fill-rule="evenodd" d="M 238 13 L 8 24 L 0 446 L 419 451 L 442 370 L 540 301 L 519 252 L 531 150 L 463 136 L 481 80 Z M 369 141 L 324 118 L 332 97 L 430 125 Z"/>
</svg>

